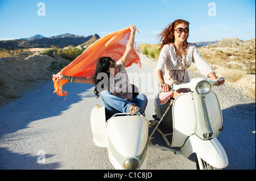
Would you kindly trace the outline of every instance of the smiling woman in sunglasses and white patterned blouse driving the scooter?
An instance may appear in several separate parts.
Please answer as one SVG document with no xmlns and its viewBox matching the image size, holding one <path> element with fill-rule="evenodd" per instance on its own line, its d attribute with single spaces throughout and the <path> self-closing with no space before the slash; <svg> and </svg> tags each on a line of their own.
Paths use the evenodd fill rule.
<svg viewBox="0 0 256 181">
<path fill-rule="evenodd" d="M 159 35 L 161 52 L 155 73 L 158 78 L 159 88 L 163 92 L 168 92 L 169 86 L 173 83 L 190 82 L 186 69 L 191 66 L 192 62 L 205 77 L 212 79 L 221 78 L 216 76 L 208 62 L 200 55 L 196 45 L 187 42 L 188 35 L 189 23 L 182 19 L 172 22 Z M 218 85 L 222 85 L 224 82 L 224 80 L 219 81 Z M 177 95 L 188 91 L 190 90 L 180 89 L 171 92 L 170 96 L 176 98 Z"/>
</svg>

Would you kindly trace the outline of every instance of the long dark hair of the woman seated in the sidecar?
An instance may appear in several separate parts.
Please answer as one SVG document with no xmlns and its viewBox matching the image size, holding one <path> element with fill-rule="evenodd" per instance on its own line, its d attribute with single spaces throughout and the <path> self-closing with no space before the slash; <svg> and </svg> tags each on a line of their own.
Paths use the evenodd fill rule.
<svg viewBox="0 0 256 181">
<path fill-rule="evenodd" d="M 94 77 L 96 77 L 96 84 L 95 84 L 95 88 L 94 88 L 94 94 L 97 96 L 97 98 L 99 96 L 99 93 L 102 90 L 106 89 L 106 85 L 104 85 L 104 84 L 102 84 L 101 87 L 98 87 L 98 83 L 101 82 L 104 77 L 102 77 L 101 79 L 97 79 L 97 75 L 99 73 L 106 73 L 108 75 L 108 78 L 109 78 L 109 73 L 107 73 L 107 71 L 109 70 L 109 66 L 111 65 L 110 61 L 113 61 L 112 58 L 110 58 L 110 57 L 101 57 L 97 61 L 97 65 L 96 65 L 96 69 L 95 69 L 95 73 L 94 73 Z M 102 87 L 102 86 L 105 86 L 105 87 Z M 100 88 L 100 90 L 98 90 L 99 88 Z"/>
</svg>

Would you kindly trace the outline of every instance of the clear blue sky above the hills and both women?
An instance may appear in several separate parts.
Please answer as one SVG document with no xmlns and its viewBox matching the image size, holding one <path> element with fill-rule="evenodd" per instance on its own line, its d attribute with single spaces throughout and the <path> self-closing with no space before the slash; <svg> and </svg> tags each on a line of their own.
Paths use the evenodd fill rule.
<svg viewBox="0 0 256 181">
<path fill-rule="evenodd" d="M 39 2 L 45 5 L 45 16 L 38 15 Z M 192 43 L 255 38 L 251 0 L 0 0 L 0 40 L 63 33 L 102 37 L 133 24 L 141 31 L 137 44 L 156 44 L 157 35 L 175 19 L 190 23 Z"/>
</svg>

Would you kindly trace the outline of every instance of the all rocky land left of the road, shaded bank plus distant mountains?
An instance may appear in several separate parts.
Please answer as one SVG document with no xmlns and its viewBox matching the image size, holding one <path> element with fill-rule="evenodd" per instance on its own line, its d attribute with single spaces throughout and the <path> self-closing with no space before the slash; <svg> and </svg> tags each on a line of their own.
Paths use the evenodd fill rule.
<svg viewBox="0 0 256 181">
<path fill-rule="evenodd" d="M 77 52 L 81 54 L 98 39 L 97 34 L 84 37 L 67 33 L 40 39 L 0 41 L 0 107 L 51 80 L 52 74 L 70 64 L 70 57 L 77 56 Z"/>
</svg>

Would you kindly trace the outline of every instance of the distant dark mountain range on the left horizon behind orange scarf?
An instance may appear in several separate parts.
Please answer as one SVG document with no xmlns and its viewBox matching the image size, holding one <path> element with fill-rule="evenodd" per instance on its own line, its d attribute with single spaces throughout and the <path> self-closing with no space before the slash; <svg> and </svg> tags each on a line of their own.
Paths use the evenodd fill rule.
<svg viewBox="0 0 256 181">
<path fill-rule="evenodd" d="M 63 35 L 44 37 L 42 35 L 35 35 L 29 38 L 22 38 L 17 40 L 0 41 L 0 49 L 23 49 L 23 48 L 49 48 L 49 47 L 68 47 L 73 45 L 90 45 L 94 41 L 100 39 L 97 34 L 89 36 L 72 35 L 65 33 Z"/>
</svg>

